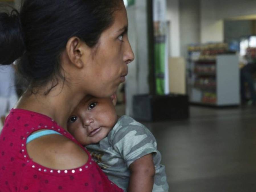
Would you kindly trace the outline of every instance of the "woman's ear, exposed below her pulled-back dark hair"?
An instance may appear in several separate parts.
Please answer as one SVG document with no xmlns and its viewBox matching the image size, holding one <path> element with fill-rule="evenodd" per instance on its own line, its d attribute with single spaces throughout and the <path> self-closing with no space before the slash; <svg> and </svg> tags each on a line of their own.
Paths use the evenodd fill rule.
<svg viewBox="0 0 256 192">
<path fill-rule="evenodd" d="M 66 45 L 66 52 L 67 56 L 69 57 L 69 61 L 71 61 L 71 63 L 73 63 L 76 67 L 83 68 L 84 63 L 82 56 L 86 54 L 87 49 L 87 45 L 78 37 L 71 37 Z"/>
</svg>

